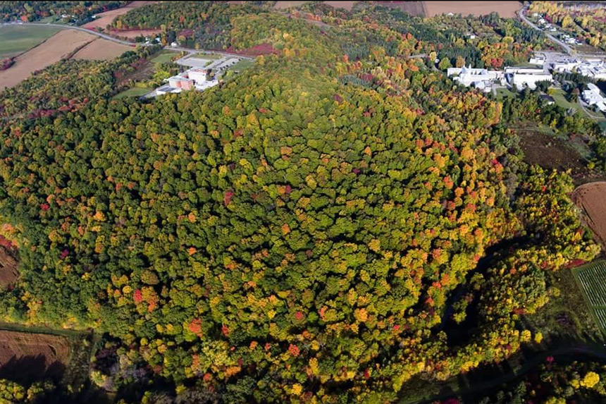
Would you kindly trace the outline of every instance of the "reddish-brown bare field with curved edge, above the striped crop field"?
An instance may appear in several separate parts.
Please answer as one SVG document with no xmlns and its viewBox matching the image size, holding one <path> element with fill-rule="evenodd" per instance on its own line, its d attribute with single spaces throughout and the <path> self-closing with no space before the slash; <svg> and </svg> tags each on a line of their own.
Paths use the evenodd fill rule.
<svg viewBox="0 0 606 404">
<path fill-rule="evenodd" d="M 606 247 L 606 182 L 581 185 L 572 192 L 572 201 L 581 209 L 584 221 Z"/>
</svg>

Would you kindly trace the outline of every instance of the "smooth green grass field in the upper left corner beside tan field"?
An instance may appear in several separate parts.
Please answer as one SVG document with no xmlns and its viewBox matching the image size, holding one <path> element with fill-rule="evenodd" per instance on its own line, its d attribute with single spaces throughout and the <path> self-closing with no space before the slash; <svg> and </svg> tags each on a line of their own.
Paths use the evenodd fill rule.
<svg viewBox="0 0 606 404">
<path fill-rule="evenodd" d="M 24 25 L 0 27 L 0 59 L 32 49 L 59 30 L 61 28 Z"/>
</svg>

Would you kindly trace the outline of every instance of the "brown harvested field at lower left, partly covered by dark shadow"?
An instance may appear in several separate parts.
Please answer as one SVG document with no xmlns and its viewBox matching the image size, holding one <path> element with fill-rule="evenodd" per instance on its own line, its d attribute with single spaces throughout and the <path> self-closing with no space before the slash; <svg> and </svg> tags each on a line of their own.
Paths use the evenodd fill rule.
<svg viewBox="0 0 606 404">
<path fill-rule="evenodd" d="M 62 336 L 1 330 L 0 379 L 60 378 L 69 352 L 68 340 Z"/>
</svg>

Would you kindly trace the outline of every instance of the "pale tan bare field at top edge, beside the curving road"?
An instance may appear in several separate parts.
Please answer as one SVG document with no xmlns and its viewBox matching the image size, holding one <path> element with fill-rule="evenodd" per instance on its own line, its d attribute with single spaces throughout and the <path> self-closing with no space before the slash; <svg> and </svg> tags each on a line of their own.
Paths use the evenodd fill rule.
<svg viewBox="0 0 606 404">
<path fill-rule="evenodd" d="M 423 1 L 427 17 L 455 13 L 462 16 L 485 16 L 493 11 L 501 17 L 514 17 L 522 4 L 519 1 Z"/>
</svg>

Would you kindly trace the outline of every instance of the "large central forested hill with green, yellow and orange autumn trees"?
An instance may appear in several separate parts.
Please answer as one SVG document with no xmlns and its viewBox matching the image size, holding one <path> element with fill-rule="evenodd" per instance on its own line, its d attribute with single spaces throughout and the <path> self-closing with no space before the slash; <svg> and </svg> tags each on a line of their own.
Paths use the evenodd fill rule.
<svg viewBox="0 0 606 404">
<path fill-rule="evenodd" d="M 274 54 L 221 86 L 3 127 L 3 319 L 103 334 L 125 403 L 390 402 L 528 342 L 546 271 L 599 250 L 570 178 L 410 32 L 242 10 L 230 47 Z"/>
</svg>

